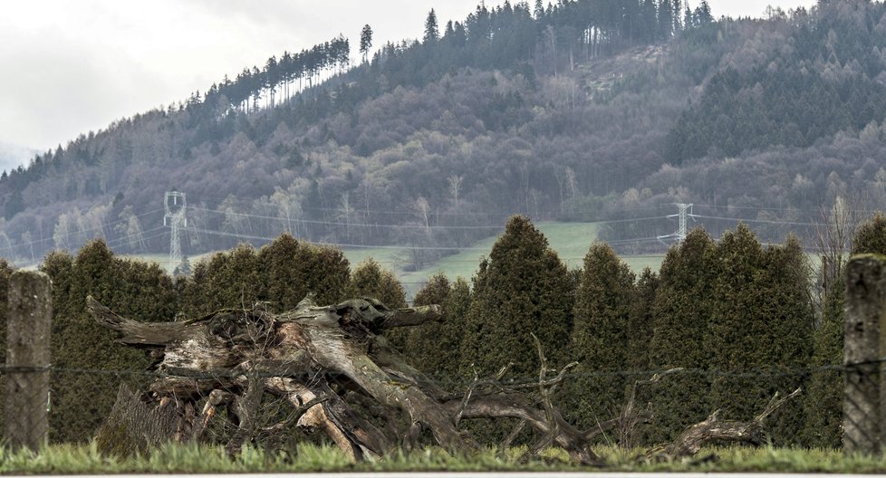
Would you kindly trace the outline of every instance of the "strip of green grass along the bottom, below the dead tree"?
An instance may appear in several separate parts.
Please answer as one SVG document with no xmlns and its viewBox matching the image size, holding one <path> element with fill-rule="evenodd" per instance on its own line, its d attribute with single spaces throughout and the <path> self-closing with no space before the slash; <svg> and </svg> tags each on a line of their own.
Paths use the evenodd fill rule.
<svg viewBox="0 0 886 478">
<path fill-rule="evenodd" d="M 520 464 L 523 449 L 498 456 L 486 450 L 469 456 L 451 456 L 439 448 L 394 453 L 375 463 L 352 464 L 337 448 L 299 445 L 297 449 L 263 452 L 247 448 L 236 458 L 221 446 L 167 445 L 149 456 L 103 456 L 94 445 L 53 445 L 39 453 L 0 450 L 3 474 L 72 473 L 291 473 L 291 472 L 428 472 L 428 471 L 602 471 L 602 472 L 769 472 L 769 473 L 883 473 L 886 462 L 875 457 L 847 456 L 834 450 L 786 448 L 710 448 L 694 462 L 654 463 L 642 450 L 598 446 L 605 466 L 582 467 L 560 450 L 548 450 L 544 459 Z M 713 457 L 713 458 L 712 458 Z"/>
</svg>

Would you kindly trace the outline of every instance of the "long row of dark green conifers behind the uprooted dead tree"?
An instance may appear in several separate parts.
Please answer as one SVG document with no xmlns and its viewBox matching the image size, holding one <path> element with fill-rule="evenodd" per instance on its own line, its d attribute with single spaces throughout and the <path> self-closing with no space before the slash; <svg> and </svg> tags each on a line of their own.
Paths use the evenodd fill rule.
<svg viewBox="0 0 886 478">
<path fill-rule="evenodd" d="M 852 252 L 886 253 L 886 216 L 859 228 Z M 195 318 L 256 302 L 285 311 L 307 292 L 323 303 L 372 296 L 391 308 L 406 305 L 400 282 L 379 263 L 369 260 L 351 271 L 341 251 L 301 244 L 289 234 L 257 251 L 244 244 L 218 253 L 176 282 L 156 264 L 115 257 L 101 240 L 76 256 L 50 253 L 41 270 L 53 280 L 53 365 L 67 370 L 53 376 L 56 441 L 90 438 L 120 383 L 138 381 L 131 371 L 148 365 L 140 351 L 115 346 L 111 331 L 93 324 L 87 295 L 140 320 Z M 4 304 L 11 272 L 0 261 Z M 449 282 L 438 275 L 416 295 L 417 305 L 443 305 L 445 320 L 392 334 L 391 341 L 416 368 L 457 389 L 475 372 L 491 375 L 511 362 L 509 377 L 537 377 L 534 333 L 550 366 L 580 362 L 558 403 L 583 426 L 616 415 L 634 380 L 652 370 L 685 368 L 638 397 L 651 404 L 654 419 L 633 436 L 647 443 L 673 439 L 717 408 L 723 416 L 749 419 L 776 390 L 804 385 L 804 401 L 774 417 L 773 439 L 834 446 L 842 374 L 802 370 L 842 361 L 843 287 L 832 289 L 816 319 L 811 275 L 795 238 L 764 247 L 744 225 L 717 243 L 692 231 L 669 250 L 659 274 L 646 270 L 639 280 L 606 244 L 592 244 L 583 269 L 570 272 L 544 235 L 514 216 L 480 263 L 473 290 L 461 278 Z M 105 371 L 85 373 L 96 369 Z M 494 443 L 506 428 L 475 425 L 474 431 Z"/>
</svg>

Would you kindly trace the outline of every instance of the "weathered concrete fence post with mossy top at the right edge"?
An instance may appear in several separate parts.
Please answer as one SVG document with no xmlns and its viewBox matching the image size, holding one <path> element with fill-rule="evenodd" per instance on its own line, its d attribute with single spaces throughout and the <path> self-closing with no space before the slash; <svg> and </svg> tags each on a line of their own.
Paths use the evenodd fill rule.
<svg viewBox="0 0 886 478">
<path fill-rule="evenodd" d="M 886 256 L 863 254 L 849 261 L 845 331 L 843 449 L 880 454 L 886 443 Z"/>
</svg>

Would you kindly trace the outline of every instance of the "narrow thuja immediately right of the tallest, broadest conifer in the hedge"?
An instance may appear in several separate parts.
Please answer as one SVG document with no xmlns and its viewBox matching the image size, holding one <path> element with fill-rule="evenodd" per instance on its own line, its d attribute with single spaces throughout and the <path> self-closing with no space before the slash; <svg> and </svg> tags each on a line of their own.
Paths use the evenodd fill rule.
<svg viewBox="0 0 886 478">
<path fill-rule="evenodd" d="M 573 418 L 591 426 L 599 416 L 616 416 L 624 404 L 628 322 L 634 274 L 607 244 L 592 244 L 576 292 L 570 352 L 579 361 L 576 378 L 564 388 Z"/>
</svg>

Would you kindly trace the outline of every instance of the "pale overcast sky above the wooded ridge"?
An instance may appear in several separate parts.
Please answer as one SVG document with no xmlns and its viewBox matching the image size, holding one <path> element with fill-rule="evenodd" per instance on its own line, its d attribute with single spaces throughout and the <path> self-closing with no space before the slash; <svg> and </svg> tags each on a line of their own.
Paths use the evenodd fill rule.
<svg viewBox="0 0 886 478">
<path fill-rule="evenodd" d="M 513 1 L 513 0 L 512 0 Z M 692 6 L 700 0 L 689 0 Z M 715 16 L 762 16 L 814 0 L 708 0 Z M 0 4 L 0 143 L 45 150 L 114 119 L 184 100 L 225 74 L 343 33 L 357 56 L 463 20 L 478 0 L 10 0 Z M 547 0 L 545 0 L 545 4 Z M 499 2 L 487 1 L 486 5 Z"/>
</svg>

